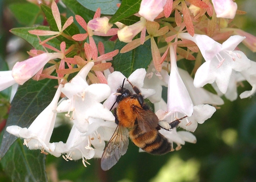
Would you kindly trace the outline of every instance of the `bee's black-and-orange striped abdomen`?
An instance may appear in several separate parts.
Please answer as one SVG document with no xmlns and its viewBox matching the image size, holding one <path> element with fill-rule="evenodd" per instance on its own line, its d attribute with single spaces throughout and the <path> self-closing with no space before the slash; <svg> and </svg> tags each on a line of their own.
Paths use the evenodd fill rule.
<svg viewBox="0 0 256 182">
<path fill-rule="evenodd" d="M 145 133 L 136 125 L 129 131 L 129 135 L 136 146 L 150 154 L 166 154 L 172 149 L 172 144 L 156 129 Z"/>
</svg>

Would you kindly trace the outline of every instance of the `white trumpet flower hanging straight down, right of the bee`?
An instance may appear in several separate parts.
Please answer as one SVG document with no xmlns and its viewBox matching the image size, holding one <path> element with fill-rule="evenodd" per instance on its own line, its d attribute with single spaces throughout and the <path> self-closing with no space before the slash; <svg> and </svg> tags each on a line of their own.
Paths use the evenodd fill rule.
<svg viewBox="0 0 256 182">
<path fill-rule="evenodd" d="M 171 59 L 171 72 L 167 92 L 167 110 L 158 110 L 156 115 L 159 120 L 172 122 L 178 118 L 187 116 L 181 120 L 179 126 L 194 132 L 197 123 L 203 123 L 216 111 L 213 106 L 201 104 L 193 106 L 188 90 L 180 77 L 176 64 L 176 52 L 172 45 L 169 46 Z M 157 108 L 160 108 L 159 106 Z M 193 113 L 193 114 L 192 114 Z"/>
</svg>

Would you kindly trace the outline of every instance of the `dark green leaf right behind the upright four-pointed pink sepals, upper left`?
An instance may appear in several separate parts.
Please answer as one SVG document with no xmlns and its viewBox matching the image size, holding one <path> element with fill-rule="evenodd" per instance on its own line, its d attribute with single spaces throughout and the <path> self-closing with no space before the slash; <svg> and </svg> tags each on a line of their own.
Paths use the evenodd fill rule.
<svg viewBox="0 0 256 182">
<path fill-rule="evenodd" d="M 52 31 L 59 31 L 58 30 L 58 27 L 57 27 L 57 24 L 55 22 L 55 19 L 52 15 L 52 11 L 51 11 L 51 8 L 49 8 L 48 6 L 44 5 L 44 4 L 41 4 L 41 9 L 43 10 L 44 14 L 45 14 L 45 17 L 46 17 L 46 20 L 50 26 L 50 30 Z M 60 15 L 60 19 L 61 19 L 61 25 L 63 26 L 65 24 L 65 22 L 67 21 L 67 18 Z M 72 23 L 70 26 L 68 26 L 64 31 L 63 33 L 69 35 L 70 37 L 72 37 L 73 35 L 75 34 L 80 34 L 80 31 L 78 29 L 78 27 Z M 57 39 L 59 39 L 61 42 L 62 41 L 65 41 L 67 45 L 72 45 L 74 44 L 74 41 L 72 40 L 69 40 L 65 37 L 63 37 L 62 35 L 58 36 Z"/>
</svg>

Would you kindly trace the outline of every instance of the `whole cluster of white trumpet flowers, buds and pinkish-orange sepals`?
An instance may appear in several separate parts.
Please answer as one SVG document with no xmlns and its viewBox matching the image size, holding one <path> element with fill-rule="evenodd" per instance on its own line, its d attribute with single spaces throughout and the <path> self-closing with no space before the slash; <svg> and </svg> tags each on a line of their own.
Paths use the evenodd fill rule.
<svg viewBox="0 0 256 182">
<path fill-rule="evenodd" d="M 176 143 L 176 150 L 185 142 L 196 143 L 191 132 L 196 130 L 198 123 L 209 119 L 218 105 L 224 104 L 220 96 L 225 94 L 231 101 L 237 99 L 238 81 L 246 80 L 252 85 L 252 90 L 244 91 L 240 98 L 250 97 L 256 91 L 256 63 L 237 49 L 243 41 L 249 49 L 255 50 L 255 37 L 216 24 L 217 18 L 234 18 L 237 5 L 231 0 L 212 0 L 212 4 L 209 1 L 143 0 L 135 14 L 140 16 L 140 21 L 129 26 L 115 23 L 119 28 L 112 28 L 115 26 L 109 23 L 109 17 L 101 17 L 98 8 L 88 23 L 81 16 L 75 16 L 86 31 L 75 35 L 65 33 L 73 17 L 62 26 L 54 1 L 51 10 L 58 31 L 29 31 L 38 36 L 45 51 L 33 49 L 29 52 L 31 58 L 17 62 L 10 71 L 0 72 L 0 90 L 15 83 L 22 85 L 30 78 L 58 80 L 51 103 L 30 126 L 12 125 L 6 129 L 24 138 L 24 145 L 29 149 L 41 149 L 42 153 L 56 157 L 62 155 L 65 160 L 82 158 L 84 166 L 89 164 L 88 159 L 101 157 L 104 141 L 111 138 L 116 128 L 110 108 L 124 79 L 125 88 L 132 90 L 129 80 L 154 104 L 159 125 L 168 127 L 172 121 L 183 118 L 178 129 L 159 130 L 171 143 Z M 172 12 L 175 12 L 174 17 L 169 18 Z M 213 20 L 209 20 L 209 16 Z M 52 37 L 41 41 L 39 36 Z M 120 53 L 119 50 L 105 53 L 103 43 L 96 36 L 111 36 L 110 40 L 118 38 L 127 44 Z M 73 44 L 66 47 L 66 42 L 62 41 L 60 50 L 48 44 L 58 37 L 65 37 Z M 115 71 L 115 65 L 110 62 L 114 56 L 134 50 L 149 39 L 152 63 L 134 70 L 128 78 Z M 200 55 L 199 51 L 202 57 L 195 58 Z M 184 59 L 194 62 L 192 72 L 177 66 L 177 62 Z M 123 65 L 125 67 L 125 63 Z M 123 68 L 126 69 L 129 68 Z M 57 74 L 53 74 L 55 72 Z M 76 73 L 72 79 L 71 73 Z M 218 94 L 202 88 L 206 84 Z M 168 87 L 167 102 L 162 98 L 163 86 Z M 117 103 L 114 108 L 116 106 Z M 65 114 L 70 120 L 72 129 L 66 143 L 50 143 L 57 114 Z"/>
</svg>

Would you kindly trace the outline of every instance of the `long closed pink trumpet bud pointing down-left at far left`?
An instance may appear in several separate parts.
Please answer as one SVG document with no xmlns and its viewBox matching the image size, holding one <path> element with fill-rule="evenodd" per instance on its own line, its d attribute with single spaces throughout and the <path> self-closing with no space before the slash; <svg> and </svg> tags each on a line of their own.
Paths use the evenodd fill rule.
<svg viewBox="0 0 256 182">
<path fill-rule="evenodd" d="M 27 80 L 32 78 L 45 64 L 51 60 L 64 58 L 63 53 L 42 53 L 33 58 L 29 58 L 22 62 L 16 62 L 12 70 L 12 76 L 16 83 L 23 85 Z"/>
</svg>

